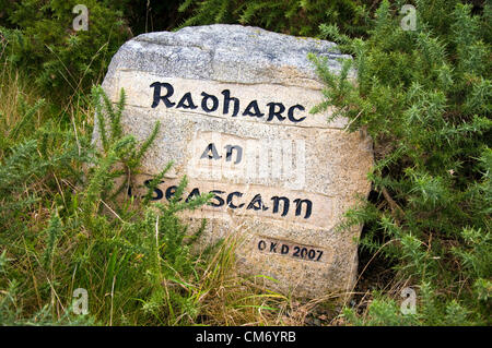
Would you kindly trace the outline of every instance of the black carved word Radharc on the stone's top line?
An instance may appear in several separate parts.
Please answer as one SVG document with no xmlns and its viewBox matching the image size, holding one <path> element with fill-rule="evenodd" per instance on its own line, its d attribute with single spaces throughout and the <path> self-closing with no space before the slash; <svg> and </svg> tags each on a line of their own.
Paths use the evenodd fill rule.
<svg viewBox="0 0 492 348">
<path fill-rule="evenodd" d="M 164 103 L 166 108 L 173 108 L 176 107 L 176 109 L 188 109 L 188 110 L 195 110 L 199 107 L 202 111 L 210 113 L 219 110 L 220 101 L 219 98 L 212 94 L 208 94 L 206 92 L 202 92 L 200 94 L 201 96 L 201 103 L 198 105 L 196 104 L 197 100 L 199 100 L 199 97 L 191 95 L 191 92 L 186 92 L 180 98 L 174 99 L 173 101 L 171 97 L 174 95 L 174 87 L 171 83 L 167 82 L 154 82 L 150 85 L 151 88 L 154 88 L 153 94 L 153 100 L 152 100 L 152 108 L 156 108 L 161 101 Z M 163 94 L 163 89 L 165 89 L 165 93 Z M 298 123 L 302 122 L 306 117 L 298 117 L 295 115 L 295 112 L 304 111 L 306 108 L 302 105 L 293 105 L 289 108 L 286 108 L 282 103 L 268 103 L 263 108 L 261 108 L 258 105 L 258 100 L 251 100 L 247 104 L 247 106 L 242 109 L 241 100 L 236 97 L 231 96 L 230 89 L 224 89 L 221 92 L 222 94 L 222 113 L 227 115 L 230 112 L 230 107 L 232 106 L 232 117 L 236 117 L 239 115 L 239 111 L 242 116 L 250 116 L 256 118 L 262 118 L 266 115 L 267 121 L 272 121 L 274 118 L 277 118 L 279 121 L 284 121 L 288 119 L 291 122 Z M 174 97 L 173 97 L 174 98 Z M 177 105 L 176 105 L 177 103 Z M 262 112 L 263 110 L 265 112 Z M 285 112 L 286 111 L 286 112 Z M 284 113 L 285 112 L 285 113 Z M 285 116 L 286 115 L 286 116 Z"/>
</svg>

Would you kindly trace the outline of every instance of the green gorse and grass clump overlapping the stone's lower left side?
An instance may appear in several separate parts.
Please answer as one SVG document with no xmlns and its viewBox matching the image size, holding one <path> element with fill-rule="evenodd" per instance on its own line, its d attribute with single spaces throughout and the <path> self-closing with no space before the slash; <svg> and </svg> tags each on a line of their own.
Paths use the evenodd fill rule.
<svg viewBox="0 0 492 348">
<path fill-rule="evenodd" d="M 95 87 L 92 100 L 105 140 L 99 148 L 92 147 L 90 131 L 73 132 L 71 124 L 55 128 L 47 120 L 33 132 L 24 120 L 32 119 L 40 103 L 19 100 L 20 121 L 13 123 L 15 132 L 7 132 L 0 158 L 0 321 L 192 322 L 198 304 L 186 287 L 197 281 L 204 261 L 191 252 L 190 243 L 204 225 L 189 231 L 176 213 L 197 208 L 210 196 L 183 200 L 186 178 L 166 205 L 118 194 L 117 182 L 128 182 L 130 173 L 138 172 L 159 124 L 139 144 L 121 129 L 124 93 L 114 106 Z M 40 214 L 50 217 L 39 219 Z M 75 288 L 87 290 L 89 316 L 71 311 Z"/>
</svg>

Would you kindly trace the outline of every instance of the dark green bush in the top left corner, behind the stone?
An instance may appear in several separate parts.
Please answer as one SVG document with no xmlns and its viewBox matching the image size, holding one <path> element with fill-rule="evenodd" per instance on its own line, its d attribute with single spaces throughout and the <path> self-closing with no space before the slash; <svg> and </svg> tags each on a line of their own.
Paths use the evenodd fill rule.
<svg viewBox="0 0 492 348">
<path fill-rule="evenodd" d="M 75 0 L 1 0 L 0 35 L 5 53 L 47 95 L 61 98 L 87 92 L 130 33 L 121 12 L 102 1 L 84 1 L 89 31 L 74 31 Z"/>
</svg>

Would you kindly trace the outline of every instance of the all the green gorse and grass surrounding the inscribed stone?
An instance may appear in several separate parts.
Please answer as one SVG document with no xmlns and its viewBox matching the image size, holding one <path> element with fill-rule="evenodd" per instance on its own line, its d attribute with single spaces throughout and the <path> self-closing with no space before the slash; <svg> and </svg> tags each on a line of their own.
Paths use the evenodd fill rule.
<svg viewBox="0 0 492 348">
<path fill-rule="evenodd" d="M 85 0 L 90 27 L 75 32 L 79 2 L 0 0 L 0 323 L 491 324 L 487 1 Z M 401 26 L 405 4 L 417 9 L 414 31 Z M 176 212 L 206 196 L 115 201 L 116 179 L 138 171 L 153 136 L 122 134 L 125 95 L 112 106 L 93 86 L 132 36 L 211 23 L 326 38 L 354 57 L 344 72 L 355 68 L 356 83 L 311 57 L 326 84 L 313 111 L 337 106 L 348 131 L 375 145 L 370 200 L 340 226 L 364 224 L 360 281 L 344 307 L 330 302 L 342 295 L 257 290 L 255 277 L 234 273 L 234 240 L 191 253 Z M 102 151 L 90 141 L 96 110 L 109 120 Z M 406 287 L 414 313 L 400 311 Z M 86 315 L 70 311 L 75 288 L 89 292 Z"/>
</svg>

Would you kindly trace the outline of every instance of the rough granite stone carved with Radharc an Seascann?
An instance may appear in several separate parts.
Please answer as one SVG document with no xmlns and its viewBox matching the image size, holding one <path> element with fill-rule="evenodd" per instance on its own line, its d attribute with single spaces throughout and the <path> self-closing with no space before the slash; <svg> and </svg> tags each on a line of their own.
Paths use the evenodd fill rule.
<svg viewBox="0 0 492 348">
<path fill-rule="evenodd" d="M 201 244 L 237 235 L 241 272 L 277 279 L 266 284 L 273 290 L 319 297 L 354 284 L 361 228 L 335 227 L 367 195 L 373 155 L 368 137 L 343 131 L 347 120 L 327 122 L 331 109 L 308 113 L 323 98 L 308 52 L 340 71 L 335 44 L 256 27 L 143 34 L 119 49 L 103 87 L 115 101 L 125 88 L 124 127 L 139 140 L 163 125 L 132 194 L 173 160 L 156 200 L 184 175 L 187 194 L 216 195 L 184 216 L 209 218 Z"/>
</svg>

